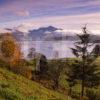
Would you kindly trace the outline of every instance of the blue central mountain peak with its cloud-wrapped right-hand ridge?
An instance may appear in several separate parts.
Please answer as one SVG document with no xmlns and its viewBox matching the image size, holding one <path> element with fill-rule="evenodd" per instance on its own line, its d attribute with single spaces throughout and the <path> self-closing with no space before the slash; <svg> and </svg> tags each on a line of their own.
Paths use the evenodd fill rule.
<svg viewBox="0 0 100 100">
<path fill-rule="evenodd" d="M 57 40 L 74 40 L 77 39 L 75 34 L 71 32 L 64 32 L 61 28 L 55 28 L 53 26 L 41 27 L 29 31 L 28 34 L 33 40 L 46 40 L 46 41 L 57 41 Z"/>
</svg>

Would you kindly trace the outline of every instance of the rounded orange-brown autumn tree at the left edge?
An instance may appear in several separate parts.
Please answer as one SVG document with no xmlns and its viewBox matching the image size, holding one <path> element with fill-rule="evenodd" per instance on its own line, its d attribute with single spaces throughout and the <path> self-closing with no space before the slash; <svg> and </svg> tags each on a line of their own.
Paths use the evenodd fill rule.
<svg viewBox="0 0 100 100">
<path fill-rule="evenodd" d="M 9 67 L 14 66 L 21 59 L 20 47 L 9 33 L 1 36 L 0 59 L 7 63 Z"/>
</svg>

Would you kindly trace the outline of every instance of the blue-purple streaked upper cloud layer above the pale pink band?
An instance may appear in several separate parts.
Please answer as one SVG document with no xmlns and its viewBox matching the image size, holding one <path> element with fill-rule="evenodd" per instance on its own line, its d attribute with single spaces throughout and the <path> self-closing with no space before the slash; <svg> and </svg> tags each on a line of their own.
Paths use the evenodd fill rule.
<svg viewBox="0 0 100 100">
<path fill-rule="evenodd" d="M 0 18 L 3 21 L 15 20 L 21 16 L 27 18 L 27 15 L 41 17 L 99 11 L 99 0 L 0 0 Z"/>
</svg>

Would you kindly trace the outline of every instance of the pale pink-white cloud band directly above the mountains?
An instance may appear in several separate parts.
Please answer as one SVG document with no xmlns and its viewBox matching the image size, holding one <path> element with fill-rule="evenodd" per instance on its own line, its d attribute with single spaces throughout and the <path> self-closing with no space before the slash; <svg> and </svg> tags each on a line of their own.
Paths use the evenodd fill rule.
<svg viewBox="0 0 100 100">
<path fill-rule="evenodd" d="M 68 31 L 79 32 L 85 24 L 92 33 L 100 34 L 100 13 L 33 18 L 9 22 L 4 27 L 18 26 L 17 29 L 20 31 L 28 32 L 32 29 L 52 25 Z"/>
</svg>

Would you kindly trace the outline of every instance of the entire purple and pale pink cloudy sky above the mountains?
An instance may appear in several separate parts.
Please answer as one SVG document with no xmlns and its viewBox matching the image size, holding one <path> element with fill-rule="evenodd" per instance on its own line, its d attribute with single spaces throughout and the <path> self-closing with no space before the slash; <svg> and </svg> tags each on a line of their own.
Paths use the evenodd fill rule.
<svg viewBox="0 0 100 100">
<path fill-rule="evenodd" d="M 43 26 L 78 31 L 87 24 L 100 34 L 100 0 L 0 0 L 0 30 Z"/>
</svg>

